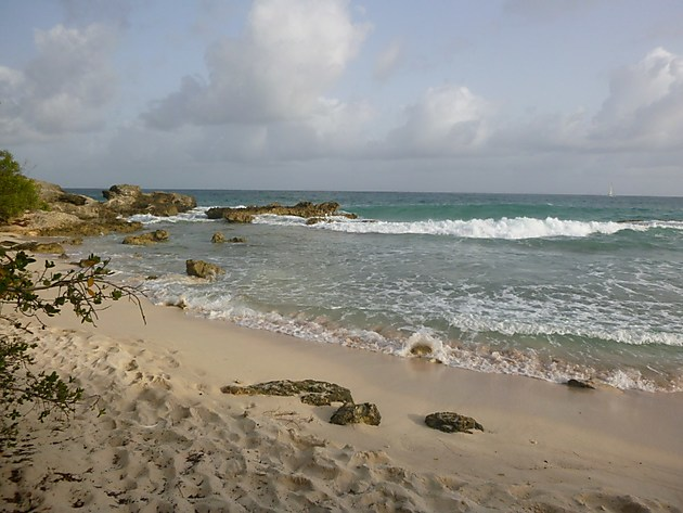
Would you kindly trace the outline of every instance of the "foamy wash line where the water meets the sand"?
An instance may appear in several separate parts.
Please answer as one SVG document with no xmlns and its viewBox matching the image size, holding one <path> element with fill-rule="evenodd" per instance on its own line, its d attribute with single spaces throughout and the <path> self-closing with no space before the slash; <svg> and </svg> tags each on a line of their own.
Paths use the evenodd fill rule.
<svg viewBox="0 0 683 513">
<path fill-rule="evenodd" d="M 151 282 L 147 285 L 157 304 L 181 306 L 190 315 L 225 320 L 245 328 L 268 330 L 309 341 L 339 344 L 403 358 L 411 357 L 411 349 L 414 347 L 427 346 L 430 348 L 428 358 L 449 367 L 479 372 L 525 375 L 556 383 L 563 383 L 575 377 L 594 380 L 621 389 L 671 392 L 680 388 L 675 384 L 657 384 L 643 376 L 635 369 L 596 370 L 590 365 L 571 363 L 557 358 L 549 361 L 528 348 L 502 349 L 486 344 L 447 344 L 429 329 L 385 336 L 373 330 L 342 326 L 321 318 L 309 320 L 302 316 L 288 317 L 274 311 L 257 311 L 241 305 L 230 294 L 223 293 L 220 297 L 207 297 L 206 291 L 175 287 L 175 283 L 183 285 L 185 280 L 182 277 L 177 277 L 177 280 L 169 277 L 168 280 Z M 183 292 L 179 293 L 179 291 Z"/>
</svg>

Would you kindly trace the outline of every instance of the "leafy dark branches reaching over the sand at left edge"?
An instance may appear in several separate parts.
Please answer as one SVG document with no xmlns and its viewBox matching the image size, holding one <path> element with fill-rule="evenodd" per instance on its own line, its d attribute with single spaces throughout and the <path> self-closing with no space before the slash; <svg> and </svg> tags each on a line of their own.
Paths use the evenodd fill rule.
<svg viewBox="0 0 683 513">
<path fill-rule="evenodd" d="M 16 443 L 20 418 L 28 410 L 36 411 L 41 422 L 51 413 L 66 420 L 83 394 L 72 377 L 31 371 L 30 349 L 36 344 L 21 336 L 22 331 L 29 332 L 29 325 L 17 313 L 35 319 L 42 329 L 41 316 L 56 316 L 68 304 L 81 322 L 94 323 L 106 300 L 127 297 L 144 320 L 138 291 L 107 280 L 108 260 L 91 255 L 81 268 L 67 272 L 53 272 L 54 264 L 46 261 L 43 269 L 31 272 L 28 267 L 35 261 L 24 252 L 12 255 L 0 247 L 0 450 Z M 56 296 L 48 299 L 46 291 Z M 3 312 L 3 307 L 12 312 Z"/>
</svg>

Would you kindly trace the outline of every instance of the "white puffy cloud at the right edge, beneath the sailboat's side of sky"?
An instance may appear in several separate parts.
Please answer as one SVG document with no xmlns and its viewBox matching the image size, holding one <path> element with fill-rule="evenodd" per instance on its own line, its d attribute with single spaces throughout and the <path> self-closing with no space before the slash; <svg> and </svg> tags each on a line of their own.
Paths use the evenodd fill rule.
<svg viewBox="0 0 683 513">
<path fill-rule="evenodd" d="M 683 143 L 683 57 L 657 48 L 615 72 L 590 137 L 594 144 L 613 148 Z"/>
</svg>

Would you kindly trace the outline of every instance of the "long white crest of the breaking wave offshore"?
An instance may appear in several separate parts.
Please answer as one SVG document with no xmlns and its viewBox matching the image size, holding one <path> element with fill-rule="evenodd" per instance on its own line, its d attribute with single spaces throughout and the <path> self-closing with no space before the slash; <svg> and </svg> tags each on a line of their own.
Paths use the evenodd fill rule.
<svg viewBox="0 0 683 513">
<path fill-rule="evenodd" d="M 639 222 L 575 221 L 554 217 L 534 219 L 516 217 L 501 219 L 427 220 L 413 222 L 358 221 L 313 225 L 313 228 L 348 233 L 430 234 L 465 239 L 541 239 L 584 238 L 596 233 L 614 234 L 621 230 L 646 231 L 649 226 Z"/>
</svg>

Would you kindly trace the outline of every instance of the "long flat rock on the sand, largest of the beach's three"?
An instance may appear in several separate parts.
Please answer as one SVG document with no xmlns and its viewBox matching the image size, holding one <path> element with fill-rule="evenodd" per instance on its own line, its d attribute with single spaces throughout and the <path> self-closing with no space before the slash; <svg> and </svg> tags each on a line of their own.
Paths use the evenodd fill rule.
<svg viewBox="0 0 683 513">
<path fill-rule="evenodd" d="M 299 396 L 301 402 L 313 406 L 328 406 L 333 402 L 353 403 L 348 388 L 315 380 L 280 380 L 248 386 L 227 385 L 220 390 L 223 394 L 246 396 Z"/>
</svg>

